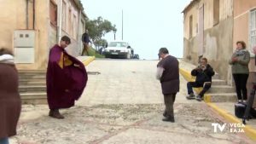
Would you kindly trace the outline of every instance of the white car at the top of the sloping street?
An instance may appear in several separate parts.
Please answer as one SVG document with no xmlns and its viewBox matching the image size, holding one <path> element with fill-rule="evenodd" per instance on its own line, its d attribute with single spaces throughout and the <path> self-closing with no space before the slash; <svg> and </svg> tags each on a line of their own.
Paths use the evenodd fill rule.
<svg viewBox="0 0 256 144">
<path fill-rule="evenodd" d="M 125 59 L 131 59 L 133 49 L 127 42 L 114 41 L 110 42 L 106 49 L 103 50 L 103 55 L 106 58 L 119 57 Z"/>
</svg>

